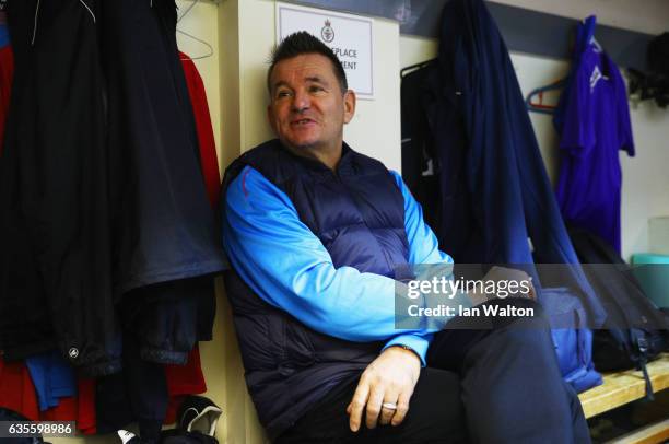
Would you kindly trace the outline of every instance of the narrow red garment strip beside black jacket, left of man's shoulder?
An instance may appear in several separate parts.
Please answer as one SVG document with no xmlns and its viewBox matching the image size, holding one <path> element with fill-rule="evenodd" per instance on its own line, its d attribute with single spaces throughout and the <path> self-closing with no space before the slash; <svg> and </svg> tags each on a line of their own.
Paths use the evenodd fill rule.
<svg viewBox="0 0 669 444">
<path fill-rule="evenodd" d="M 219 194 L 221 192 L 221 176 L 219 175 L 219 159 L 216 156 L 216 145 L 213 139 L 213 128 L 211 127 L 204 83 L 202 83 L 202 78 L 190 57 L 179 52 L 179 58 L 184 67 L 184 74 L 186 74 L 186 84 L 188 85 L 188 94 L 190 95 L 198 131 L 204 186 L 207 187 L 209 201 L 215 208 L 219 202 Z"/>
</svg>

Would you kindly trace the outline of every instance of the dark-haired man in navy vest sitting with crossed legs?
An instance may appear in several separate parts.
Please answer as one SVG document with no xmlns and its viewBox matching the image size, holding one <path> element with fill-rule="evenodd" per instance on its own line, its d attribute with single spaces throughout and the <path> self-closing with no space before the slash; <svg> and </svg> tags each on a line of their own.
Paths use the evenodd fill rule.
<svg viewBox="0 0 669 444">
<path fill-rule="evenodd" d="M 227 170 L 223 235 L 247 385 L 270 436 L 588 441 L 541 317 L 396 329 L 396 270 L 451 259 L 400 176 L 343 142 L 355 94 L 333 52 L 289 36 L 268 89 L 278 140 Z"/>
</svg>

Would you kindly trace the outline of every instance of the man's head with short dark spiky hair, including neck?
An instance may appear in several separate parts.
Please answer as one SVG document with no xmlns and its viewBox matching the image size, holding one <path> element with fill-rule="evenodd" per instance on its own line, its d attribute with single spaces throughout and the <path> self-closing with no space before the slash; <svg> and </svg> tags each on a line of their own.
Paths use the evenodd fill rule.
<svg viewBox="0 0 669 444">
<path fill-rule="evenodd" d="M 336 162 L 355 94 L 332 50 L 306 32 L 292 34 L 274 50 L 267 83 L 268 119 L 281 142 L 300 155 Z"/>
</svg>

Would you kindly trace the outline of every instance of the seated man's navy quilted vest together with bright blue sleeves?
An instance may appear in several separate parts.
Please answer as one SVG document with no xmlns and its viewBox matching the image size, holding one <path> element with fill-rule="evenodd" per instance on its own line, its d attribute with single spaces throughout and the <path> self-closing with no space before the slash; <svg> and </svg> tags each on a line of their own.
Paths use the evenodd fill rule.
<svg viewBox="0 0 669 444">
<path fill-rule="evenodd" d="M 345 143 L 336 171 L 278 140 L 226 171 L 225 277 L 246 382 L 278 436 L 386 347 L 425 363 L 431 330 L 398 330 L 396 269 L 450 262 L 401 178 Z"/>
</svg>

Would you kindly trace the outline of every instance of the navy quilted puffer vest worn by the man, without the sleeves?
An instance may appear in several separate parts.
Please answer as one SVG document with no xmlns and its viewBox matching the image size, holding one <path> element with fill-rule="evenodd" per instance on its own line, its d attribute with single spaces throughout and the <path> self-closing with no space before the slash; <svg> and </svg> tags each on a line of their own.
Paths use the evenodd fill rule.
<svg viewBox="0 0 669 444">
<path fill-rule="evenodd" d="M 296 156 L 278 140 L 246 152 L 226 170 L 227 185 L 250 165 L 284 191 L 300 219 L 322 242 L 334 267 L 394 277 L 409 255 L 404 200 L 378 161 L 343 147 L 336 172 Z M 350 342 L 305 327 L 257 296 L 238 274 L 225 276 L 246 383 L 273 439 L 334 385 L 355 377 L 383 342 Z"/>
</svg>

